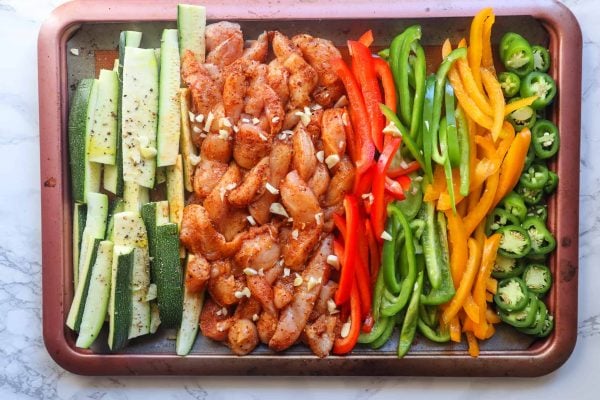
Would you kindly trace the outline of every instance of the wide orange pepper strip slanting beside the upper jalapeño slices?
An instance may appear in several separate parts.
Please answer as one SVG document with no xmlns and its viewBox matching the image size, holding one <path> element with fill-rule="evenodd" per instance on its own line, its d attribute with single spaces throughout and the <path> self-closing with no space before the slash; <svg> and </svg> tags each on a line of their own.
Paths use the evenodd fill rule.
<svg viewBox="0 0 600 400">
<path fill-rule="evenodd" d="M 493 205 L 495 206 L 504 196 L 510 192 L 521 176 L 525 165 L 525 157 L 529 150 L 531 142 L 531 131 L 528 128 L 523 129 L 515 136 L 515 139 L 508 149 L 504 162 L 500 166 L 500 181 L 498 190 L 495 193 Z"/>
</svg>

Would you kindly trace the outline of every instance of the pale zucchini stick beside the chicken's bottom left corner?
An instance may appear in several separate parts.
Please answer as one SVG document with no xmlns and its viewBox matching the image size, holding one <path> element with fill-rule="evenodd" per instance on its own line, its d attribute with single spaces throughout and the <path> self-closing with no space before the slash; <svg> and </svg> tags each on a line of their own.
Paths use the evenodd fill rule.
<svg viewBox="0 0 600 400">
<path fill-rule="evenodd" d="M 188 254 L 187 265 L 191 263 L 194 255 Z M 177 342 L 175 345 L 177 355 L 185 356 L 189 354 L 194 346 L 194 341 L 198 334 L 198 320 L 204 304 L 204 291 L 190 292 L 184 285 L 183 288 L 183 313 L 181 316 L 181 325 L 177 331 Z"/>
</svg>

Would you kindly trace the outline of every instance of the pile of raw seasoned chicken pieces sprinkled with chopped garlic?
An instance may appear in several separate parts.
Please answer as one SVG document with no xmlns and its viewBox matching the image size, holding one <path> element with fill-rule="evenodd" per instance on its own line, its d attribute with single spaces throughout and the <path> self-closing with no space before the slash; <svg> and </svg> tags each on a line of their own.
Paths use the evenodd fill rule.
<svg viewBox="0 0 600 400">
<path fill-rule="evenodd" d="M 205 63 L 182 58 L 200 149 L 180 235 L 186 285 L 208 293 L 202 334 L 235 354 L 302 341 L 325 357 L 346 323 L 333 302 L 332 216 L 354 183 L 330 66 L 340 53 L 277 31 L 244 47 L 240 26 L 220 22 L 206 27 Z"/>
</svg>

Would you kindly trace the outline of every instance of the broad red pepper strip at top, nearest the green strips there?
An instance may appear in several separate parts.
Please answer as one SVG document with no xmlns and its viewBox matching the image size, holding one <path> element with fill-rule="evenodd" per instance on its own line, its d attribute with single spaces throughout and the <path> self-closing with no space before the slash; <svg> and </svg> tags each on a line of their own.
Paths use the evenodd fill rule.
<svg viewBox="0 0 600 400">
<path fill-rule="evenodd" d="M 379 82 L 373 66 L 371 51 L 364 44 L 348 41 L 348 49 L 352 56 L 352 70 L 362 90 L 367 118 L 371 130 L 371 139 L 379 152 L 383 149 L 383 126 L 384 118 L 379 104 L 383 101 Z"/>
</svg>

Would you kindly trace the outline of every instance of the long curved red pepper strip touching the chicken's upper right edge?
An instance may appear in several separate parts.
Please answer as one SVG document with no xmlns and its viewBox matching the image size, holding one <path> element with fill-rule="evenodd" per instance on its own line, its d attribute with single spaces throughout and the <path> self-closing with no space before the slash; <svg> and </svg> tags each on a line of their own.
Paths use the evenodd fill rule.
<svg viewBox="0 0 600 400">
<path fill-rule="evenodd" d="M 341 79 L 348 95 L 350 119 L 352 120 L 352 127 L 355 130 L 353 137 L 353 161 L 356 165 L 356 175 L 360 176 L 369 169 L 375 155 L 375 145 L 371 139 L 367 108 L 365 107 L 360 87 L 346 63 L 341 58 L 334 58 L 331 60 L 331 67 Z"/>
</svg>

